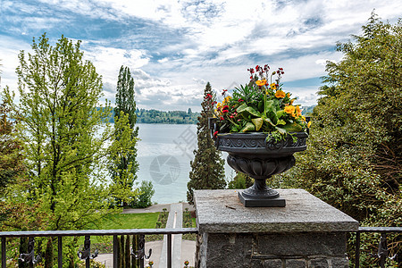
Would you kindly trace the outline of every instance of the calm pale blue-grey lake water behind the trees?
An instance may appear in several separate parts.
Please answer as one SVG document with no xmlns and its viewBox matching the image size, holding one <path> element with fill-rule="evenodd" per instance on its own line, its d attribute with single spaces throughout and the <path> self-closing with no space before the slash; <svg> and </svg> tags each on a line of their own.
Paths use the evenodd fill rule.
<svg viewBox="0 0 402 268">
<path fill-rule="evenodd" d="M 152 181 L 153 202 L 187 201 L 188 173 L 197 147 L 197 125 L 140 124 L 138 137 L 138 182 Z M 226 153 L 222 158 L 226 160 Z M 233 175 L 225 163 L 226 177 Z"/>
</svg>

